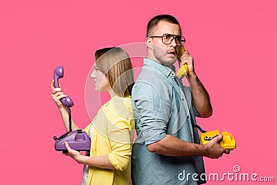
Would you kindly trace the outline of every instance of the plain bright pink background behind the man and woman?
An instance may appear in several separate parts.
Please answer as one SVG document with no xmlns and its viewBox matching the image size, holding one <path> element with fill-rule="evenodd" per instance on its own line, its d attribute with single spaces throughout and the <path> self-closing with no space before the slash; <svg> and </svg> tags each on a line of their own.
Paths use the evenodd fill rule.
<svg viewBox="0 0 277 185">
<path fill-rule="evenodd" d="M 148 21 L 162 13 L 179 20 L 211 96 L 213 116 L 198 123 L 228 130 L 238 142 L 231 155 L 205 158 L 206 173 L 233 173 L 239 165 L 241 173 L 277 178 L 275 1 L 1 0 L 1 184 L 80 183 L 82 165 L 53 148 L 53 136 L 64 133 L 51 100 L 53 70 L 64 66 L 60 83 L 75 103 L 75 122 L 85 127 L 94 51 L 144 42 Z M 99 94 L 91 96 L 97 111 Z M 223 183 L 253 184 L 208 184 Z"/>
</svg>

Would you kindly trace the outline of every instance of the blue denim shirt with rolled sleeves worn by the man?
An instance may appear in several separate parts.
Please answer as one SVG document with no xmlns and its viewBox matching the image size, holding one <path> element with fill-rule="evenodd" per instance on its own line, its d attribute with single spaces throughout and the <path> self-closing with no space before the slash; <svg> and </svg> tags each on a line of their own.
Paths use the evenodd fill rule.
<svg viewBox="0 0 277 185">
<path fill-rule="evenodd" d="M 170 134 L 190 143 L 199 143 L 197 129 L 192 127 L 199 116 L 190 93 L 170 69 L 144 59 L 144 66 L 132 89 L 132 107 L 138 135 L 132 150 L 132 184 L 202 184 L 192 176 L 187 180 L 180 173 L 204 173 L 202 157 L 169 157 L 150 152 L 146 146 Z M 197 138 L 197 139 L 194 139 Z M 198 140 L 198 141 L 195 141 Z M 185 175 L 184 174 L 184 175 Z M 180 179 L 181 177 L 181 179 Z"/>
</svg>

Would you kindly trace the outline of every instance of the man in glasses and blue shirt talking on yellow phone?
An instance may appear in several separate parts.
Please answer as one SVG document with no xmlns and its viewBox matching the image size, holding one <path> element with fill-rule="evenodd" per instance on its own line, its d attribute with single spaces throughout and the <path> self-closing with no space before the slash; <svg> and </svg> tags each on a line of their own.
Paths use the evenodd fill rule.
<svg viewBox="0 0 277 185">
<path fill-rule="evenodd" d="M 202 156 L 229 154 L 219 145 L 222 136 L 199 144 L 195 116 L 211 116 L 212 107 L 188 51 L 179 62 L 188 64 L 190 87 L 175 76 L 173 64 L 184 41 L 175 17 L 158 15 L 149 21 L 148 58 L 132 90 L 138 135 L 132 150 L 133 185 L 204 184 Z"/>
</svg>

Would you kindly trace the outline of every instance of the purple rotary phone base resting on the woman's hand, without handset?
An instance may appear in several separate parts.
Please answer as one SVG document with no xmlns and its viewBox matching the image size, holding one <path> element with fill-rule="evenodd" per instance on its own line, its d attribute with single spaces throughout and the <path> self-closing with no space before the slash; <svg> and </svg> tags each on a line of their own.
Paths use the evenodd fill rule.
<svg viewBox="0 0 277 185">
<path fill-rule="evenodd" d="M 87 132 L 82 130 L 73 130 L 72 132 L 67 132 L 60 136 L 55 142 L 55 150 L 66 151 L 64 141 L 69 143 L 70 148 L 73 150 L 90 151 L 91 149 L 91 139 Z"/>
</svg>

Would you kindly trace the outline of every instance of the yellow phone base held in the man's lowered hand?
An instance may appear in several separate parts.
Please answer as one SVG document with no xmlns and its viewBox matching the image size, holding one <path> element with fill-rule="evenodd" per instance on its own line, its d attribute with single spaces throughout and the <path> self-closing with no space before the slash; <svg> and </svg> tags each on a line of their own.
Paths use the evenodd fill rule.
<svg viewBox="0 0 277 185">
<path fill-rule="evenodd" d="M 211 141 L 215 136 L 218 136 L 218 135 L 220 135 L 220 131 L 218 130 L 202 133 L 200 134 L 200 143 L 205 145 L 206 143 L 208 143 L 208 141 Z M 236 144 L 232 134 L 229 132 L 222 132 L 222 136 L 223 136 L 223 139 L 222 141 L 220 141 L 220 146 L 228 150 L 235 149 Z"/>
</svg>

